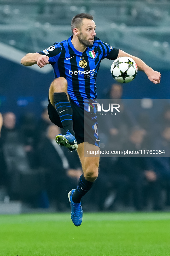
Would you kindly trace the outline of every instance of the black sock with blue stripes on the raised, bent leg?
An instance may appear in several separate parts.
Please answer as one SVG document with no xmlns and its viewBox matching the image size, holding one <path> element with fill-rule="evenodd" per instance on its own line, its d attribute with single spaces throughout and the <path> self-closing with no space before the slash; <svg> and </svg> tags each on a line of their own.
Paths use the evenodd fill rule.
<svg viewBox="0 0 170 256">
<path fill-rule="evenodd" d="M 54 103 L 60 116 L 64 131 L 75 136 L 72 124 L 72 109 L 66 93 L 54 93 Z"/>
</svg>

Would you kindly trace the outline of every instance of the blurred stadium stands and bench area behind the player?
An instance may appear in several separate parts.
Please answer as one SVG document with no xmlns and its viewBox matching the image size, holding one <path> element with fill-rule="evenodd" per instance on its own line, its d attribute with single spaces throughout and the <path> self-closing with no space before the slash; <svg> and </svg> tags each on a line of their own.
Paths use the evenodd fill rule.
<svg viewBox="0 0 170 256">
<path fill-rule="evenodd" d="M 149 109 L 151 116 L 157 118 L 157 145 L 170 150 L 170 1 L 1 0 L 1 214 L 69 210 L 67 193 L 76 186 L 81 167 L 77 156 L 70 157 L 65 151 L 66 165 L 62 157 L 55 156 L 56 152 L 50 158 L 56 150 L 50 145 L 56 130 L 48 120 L 46 107 L 53 70 L 50 65 L 43 69 L 36 65 L 24 67 L 20 60 L 27 52 L 43 50 L 70 37 L 72 17 L 81 12 L 94 16 L 97 36 L 103 42 L 140 57 L 162 74 L 158 85 L 152 84 L 142 72 L 130 84 L 113 85 L 112 61 L 101 62 L 98 99 L 141 99 L 140 116 L 132 118 L 127 103 L 127 111 L 118 122 L 120 126 L 102 127 L 102 139 L 110 134 L 110 142 L 119 144 L 115 135 L 124 138 L 121 134 L 129 134 L 135 128 L 142 131 L 137 136 L 147 140 L 152 134 Z M 113 95 L 109 94 L 112 88 Z M 158 115 L 152 108 L 152 99 L 165 99 L 156 108 Z M 130 122 L 125 122 L 126 118 Z M 141 143 L 136 142 L 135 146 Z M 55 157 L 59 160 L 52 163 Z M 102 158 L 100 173 L 98 183 L 84 199 L 85 211 L 170 210 L 169 157 L 153 158 L 149 163 L 144 159 L 129 158 L 126 162 L 118 157 Z M 58 198 L 56 193 L 61 184 L 65 187 Z"/>
</svg>

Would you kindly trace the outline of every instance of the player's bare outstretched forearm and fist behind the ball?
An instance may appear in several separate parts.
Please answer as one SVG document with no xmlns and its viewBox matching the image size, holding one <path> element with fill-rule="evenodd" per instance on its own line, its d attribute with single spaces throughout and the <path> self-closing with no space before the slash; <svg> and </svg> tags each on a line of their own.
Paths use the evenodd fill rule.
<svg viewBox="0 0 170 256">
<path fill-rule="evenodd" d="M 158 71 L 154 71 L 151 67 L 146 65 L 146 63 L 144 63 L 144 61 L 142 61 L 141 59 L 139 59 L 133 55 L 130 55 L 127 52 L 119 50 L 118 58 L 123 57 L 123 56 L 128 56 L 128 57 L 132 58 L 136 62 L 138 70 L 145 72 L 145 74 L 148 76 L 148 79 L 151 82 L 153 82 L 154 84 L 160 83 L 161 73 L 159 73 Z"/>
</svg>

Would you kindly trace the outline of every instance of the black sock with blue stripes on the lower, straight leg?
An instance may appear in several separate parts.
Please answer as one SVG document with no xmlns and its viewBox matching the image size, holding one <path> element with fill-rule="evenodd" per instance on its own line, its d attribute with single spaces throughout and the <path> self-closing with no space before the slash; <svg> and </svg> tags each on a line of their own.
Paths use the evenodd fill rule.
<svg viewBox="0 0 170 256">
<path fill-rule="evenodd" d="M 94 182 L 90 182 L 85 179 L 84 174 L 82 174 L 79 178 L 79 184 L 77 186 L 77 189 L 72 194 L 72 201 L 77 204 L 80 202 L 81 197 L 85 195 L 93 186 Z"/>
</svg>

